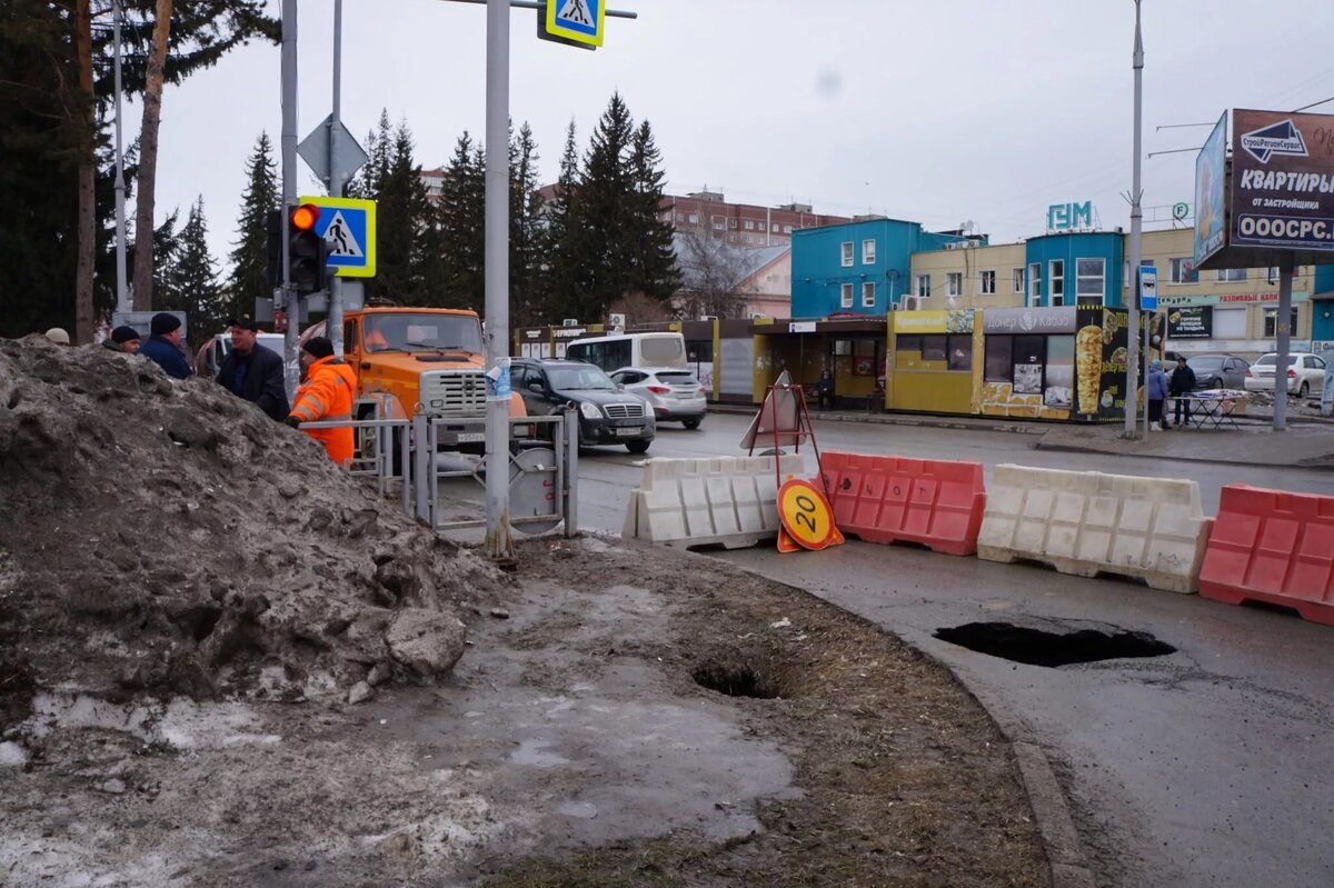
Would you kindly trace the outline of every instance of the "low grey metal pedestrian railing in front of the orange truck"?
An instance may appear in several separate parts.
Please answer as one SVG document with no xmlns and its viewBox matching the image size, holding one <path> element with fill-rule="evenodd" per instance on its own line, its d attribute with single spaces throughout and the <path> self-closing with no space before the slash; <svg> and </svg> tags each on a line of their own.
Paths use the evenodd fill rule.
<svg viewBox="0 0 1334 888">
<path fill-rule="evenodd" d="M 301 423 L 303 429 L 351 428 L 358 433 L 358 455 L 350 473 L 374 477 L 380 496 L 399 484 L 403 511 L 438 531 L 486 527 L 486 517 L 443 520 L 440 479 L 471 477 L 486 485 L 486 465 L 467 469 L 442 468 L 439 427 L 447 417 L 415 416 L 411 420 L 340 420 Z M 542 533 L 564 523 L 564 535 L 579 532 L 579 421 L 574 411 L 554 416 L 522 416 L 508 420 L 510 524 L 528 533 Z M 540 441 L 532 445 L 532 441 Z M 550 444 L 550 447 L 548 447 Z"/>
</svg>

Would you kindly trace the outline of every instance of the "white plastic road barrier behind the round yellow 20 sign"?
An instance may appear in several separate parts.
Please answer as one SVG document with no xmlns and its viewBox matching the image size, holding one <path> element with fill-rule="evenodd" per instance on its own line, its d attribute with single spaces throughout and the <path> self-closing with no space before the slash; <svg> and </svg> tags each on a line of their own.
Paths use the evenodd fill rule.
<svg viewBox="0 0 1334 888">
<path fill-rule="evenodd" d="M 651 459 L 639 488 L 630 492 L 622 536 L 683 548 L 728 549 L 778 537 L 780 472 L 800 475 L 800 455 Z"/>
</svg>

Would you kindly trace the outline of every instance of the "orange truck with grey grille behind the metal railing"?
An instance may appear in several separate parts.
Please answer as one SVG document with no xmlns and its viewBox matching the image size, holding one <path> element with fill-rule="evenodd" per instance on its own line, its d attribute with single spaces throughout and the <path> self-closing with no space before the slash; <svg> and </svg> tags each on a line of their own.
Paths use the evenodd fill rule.
<svg viewBox="0 0 1334 888">
<path fill-rule="evenodd" d="M 324 335 L 320 321 L 301 340 Z M 486 449 L 486 345 L 476 312 L 399 307 L 346 312 L 343 360 L 356 372 L 356 419 L 424 413 L 443 420 L 436 425 L 442 449 Z M 510 397 L 510 416 L 527 416 L 518 395 Z"/>
</svg>

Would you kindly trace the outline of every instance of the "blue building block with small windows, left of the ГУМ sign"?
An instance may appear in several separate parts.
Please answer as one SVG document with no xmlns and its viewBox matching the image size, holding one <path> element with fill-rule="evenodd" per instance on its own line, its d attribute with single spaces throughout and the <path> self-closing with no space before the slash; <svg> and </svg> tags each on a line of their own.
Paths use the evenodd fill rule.
<svg viewBox="0 0 1334 888">
<path fill-rule="evenodd" d="M 912 253 L 968 240 L 900 219 L 794 231 L 792 317 L 883 316 L 910 292 Z"/>
</svg>

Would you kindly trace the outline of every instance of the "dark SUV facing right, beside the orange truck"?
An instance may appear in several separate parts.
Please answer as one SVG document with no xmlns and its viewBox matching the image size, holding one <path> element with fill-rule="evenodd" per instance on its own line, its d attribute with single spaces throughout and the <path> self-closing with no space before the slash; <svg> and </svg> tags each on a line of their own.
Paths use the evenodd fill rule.
<svg viewBox="0 0 1334 888">
<path fill-rule="evenodd" d="M 510 364 L 510 379 L 531 416 L 556 413 L 574 404 L 582 447 L 624 444 L 631 453 L 643 453 L 652 444 L 652 409 L 644 399 L 618 388 L 600 367 L 516 357 Z"/>
</svg>

